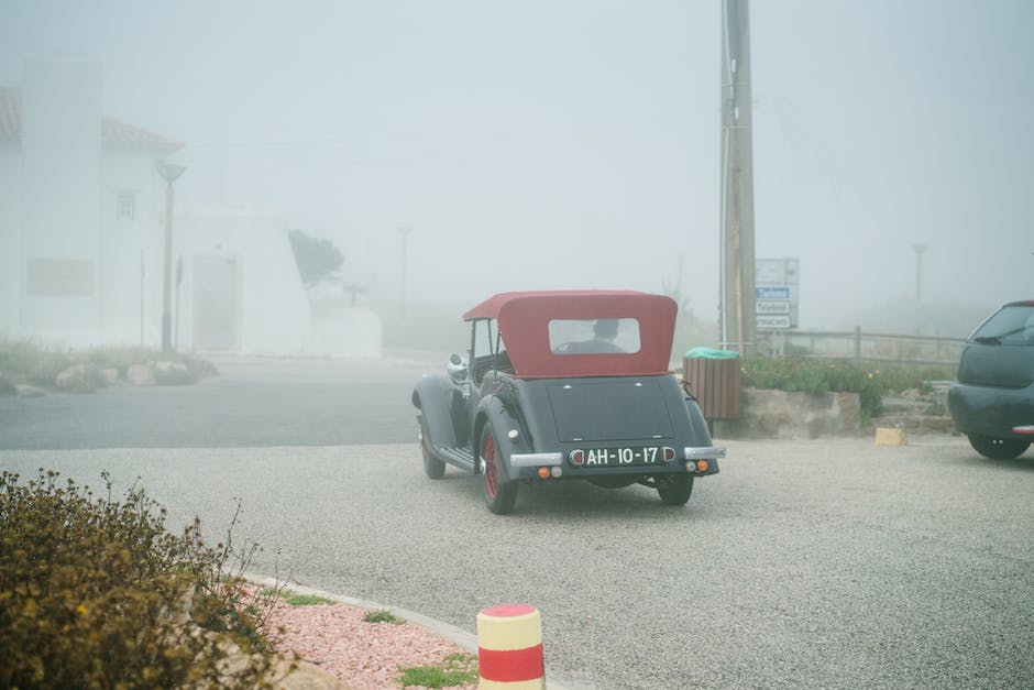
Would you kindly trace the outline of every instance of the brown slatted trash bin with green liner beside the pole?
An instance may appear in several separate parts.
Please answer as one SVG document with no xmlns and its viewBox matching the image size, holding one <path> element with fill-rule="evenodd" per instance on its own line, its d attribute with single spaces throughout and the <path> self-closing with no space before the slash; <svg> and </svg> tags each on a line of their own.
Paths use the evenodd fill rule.
<svg viewBox="0 0 1034 690">
<path fill-rule="evenodd" d="M 704 419 L 739 419 L 743 370 L 739 352 L 693 348 L 682 360 L 682 380 Z"/>
</svg>

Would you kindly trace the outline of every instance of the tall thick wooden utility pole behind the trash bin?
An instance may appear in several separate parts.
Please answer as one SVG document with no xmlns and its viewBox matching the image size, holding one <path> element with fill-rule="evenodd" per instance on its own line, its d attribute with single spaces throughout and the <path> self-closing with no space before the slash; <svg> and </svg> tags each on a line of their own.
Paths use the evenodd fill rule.
<svg viewBox="0 0 1034 690">
<path fill-rule="evenodd" d="M 747 0 L 722 3 L 722 347 L 755 353 L 754 149 Z"/>
</svg>

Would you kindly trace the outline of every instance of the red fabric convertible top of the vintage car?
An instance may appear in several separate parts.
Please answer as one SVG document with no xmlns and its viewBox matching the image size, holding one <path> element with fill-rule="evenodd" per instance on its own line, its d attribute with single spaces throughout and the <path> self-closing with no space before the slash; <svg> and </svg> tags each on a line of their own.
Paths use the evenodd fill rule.
<svg viewBox="0 0 1034 690">
<path fill-rule="evenodd" d="M 669 373 L 678 305 L 671 297 L 630 291 L 499 293 L 463 315 L 496 319 L 520 379 L 646 376 Z M 639 351 L 557 354 L 549 347 L 554 319 L 622 319 L 639 322 Z"/>
</svg>

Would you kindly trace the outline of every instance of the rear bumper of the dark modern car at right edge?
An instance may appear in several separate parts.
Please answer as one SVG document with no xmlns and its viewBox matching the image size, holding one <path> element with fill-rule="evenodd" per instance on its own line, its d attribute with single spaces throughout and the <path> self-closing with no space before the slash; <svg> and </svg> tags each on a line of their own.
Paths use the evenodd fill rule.
<svg viewBox="0 0 1034 690">
<path fill-rule="evenodd" d="M 1034 440 L 1034 385 L 1025 388 L 991 388 L 953 383 L 948 412 L 963 434 L 991 438 Z"/>
</svg>

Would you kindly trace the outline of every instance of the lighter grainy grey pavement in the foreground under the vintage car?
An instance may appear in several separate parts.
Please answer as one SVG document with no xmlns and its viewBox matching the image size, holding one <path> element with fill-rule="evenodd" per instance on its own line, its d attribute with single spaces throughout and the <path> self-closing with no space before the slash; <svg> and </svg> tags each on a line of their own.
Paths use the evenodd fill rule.
<svg viewBox="0 0 1034 690">
<path fill-rule="evenodd" d="M 548 675 L 575 688 L 1034 687 L 1034 451 L 723 442 L 685 507 L 556 483 L 505 517 L 474 477 L 427 479 L 415 440 L 4 450 L 0 468 L 95 488 L 107 469 L 210 539 L 240 500 L 253 572 L 472 633 L 486 606 L 534 604 Z"/>
</svg>

